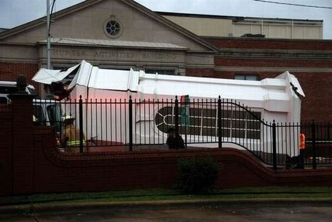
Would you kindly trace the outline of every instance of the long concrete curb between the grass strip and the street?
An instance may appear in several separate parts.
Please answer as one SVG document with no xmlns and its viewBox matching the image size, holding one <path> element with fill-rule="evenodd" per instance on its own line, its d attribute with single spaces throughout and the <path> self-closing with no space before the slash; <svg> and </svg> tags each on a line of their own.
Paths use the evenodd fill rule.
<svg viewBox="0 0 332 222">
<path fill-rule="evenodd" d="M 195 207 L 229 204 L 332 204 L 332 198 L 270 198 L 270 199 L 216 199 L 216 200 L 178 200 L 178 201 L 133 201 L 133 202 L 89 202 L 89 203 L 52 203 L 1 206 L 1 215 L 17 213 L 33 214 L 38 212 L 104 210 L 105 208 L 164 208 Z"/>
</svg>

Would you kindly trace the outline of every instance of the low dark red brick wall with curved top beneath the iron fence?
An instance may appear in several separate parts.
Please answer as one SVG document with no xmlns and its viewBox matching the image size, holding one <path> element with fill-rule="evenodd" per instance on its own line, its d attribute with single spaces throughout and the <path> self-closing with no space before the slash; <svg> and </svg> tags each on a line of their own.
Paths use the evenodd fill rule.
<svg viewBox="0 0 332 222">
<path fill-rule="evenodd" d="M 221 165 L 217 187 L 332 185 L 331 170 L 274 172 L 248 152 L 227 148 L 62 153 L 55 147 L 53 127 L 32 125 L 31 98 L 12 97 L 12 100 L 11 108 L 0 108 L 0 119 L 4 121 L 0 129 L 6 132 L 1 134 L 0 141 L 0 161 L 5 163 L 0 171 L 1 196 L 171 188 L 177 177 L 178 159 L 202 155 L 212 156 Z M 12 115 L 19 118 L 13 119 Z"/>
</svg>

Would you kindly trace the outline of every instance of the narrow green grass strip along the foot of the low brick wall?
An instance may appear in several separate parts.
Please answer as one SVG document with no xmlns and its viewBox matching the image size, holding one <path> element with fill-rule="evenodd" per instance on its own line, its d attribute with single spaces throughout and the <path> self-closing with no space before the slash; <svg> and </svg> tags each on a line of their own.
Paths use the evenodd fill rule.
<svg viewBox="0 0 332 222">
<path fill-rule="evenodd" d="M 0 198 L 0 206 L 43 203 L 129 202 L 161 200 L 214 200 L 257 198 L 332 198 L 332 187 L 247 187 L 215 189 L 202 195 L 185 195 L 170 189 L 135 189 L 107 192 L 47 193 Z"/>
</svg>

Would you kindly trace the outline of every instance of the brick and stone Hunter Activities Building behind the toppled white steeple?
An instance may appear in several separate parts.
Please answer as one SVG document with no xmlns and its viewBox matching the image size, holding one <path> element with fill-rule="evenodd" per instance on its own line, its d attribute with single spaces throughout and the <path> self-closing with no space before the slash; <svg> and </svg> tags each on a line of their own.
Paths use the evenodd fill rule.
<svg viewBox="0 0 332 222">
<path fill-rule="evenodd" d="M 88 0 L 52 20 L 54 69 L 85 59 L 101 68 L 219 78 L 263 79 L 288 70 L 306 94 L 302 121 L 332 119 L 330 40 L 198 36 L 131 0 Z M 45 30 L 40 18 L 0 33 L 0 80 L 19 73 L 31 79 L 46 66 Z"/>
</svg>

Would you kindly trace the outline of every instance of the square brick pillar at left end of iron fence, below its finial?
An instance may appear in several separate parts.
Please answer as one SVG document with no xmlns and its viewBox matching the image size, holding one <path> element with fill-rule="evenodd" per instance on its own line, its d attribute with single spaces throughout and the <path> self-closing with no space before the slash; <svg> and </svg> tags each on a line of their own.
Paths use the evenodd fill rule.
<svg viewBox="0 0 332 222">
<path fill-rule="evenodd" d="M 12 94 L 12 194 L 33 192 L 32 98 Z"/>
</svg>

